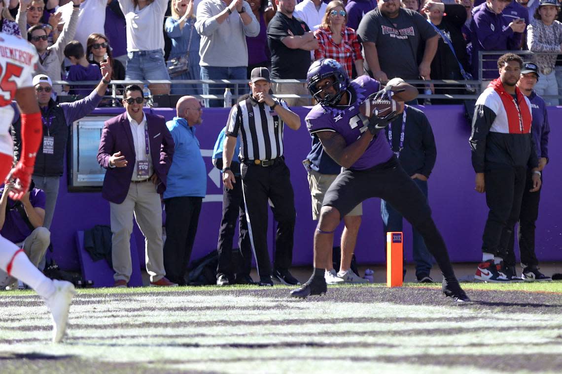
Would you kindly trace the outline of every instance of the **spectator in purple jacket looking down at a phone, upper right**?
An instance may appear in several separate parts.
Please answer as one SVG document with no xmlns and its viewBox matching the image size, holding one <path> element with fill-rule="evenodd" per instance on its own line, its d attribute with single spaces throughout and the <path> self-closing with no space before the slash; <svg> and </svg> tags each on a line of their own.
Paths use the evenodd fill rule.
<svg viewBox="0 0 562 374">
<path fill-rule="evenodd" d="M 511 19 L 503 16 L 510 0 L 487 0 L 481 7 L 473 9 L 470 24 L 472 43 L 472 75 L 478 78 L 478 52 L 481 50 L 517 50 L 527 28 L 523 17 Z M 475 3 L 476 4 L 476 3 Z M 496 55 L 484 55 L 482 78 L 495 79 L 498 75 Z M 487 82 L 484 82 L 486 85 Z"/>
</svg>

